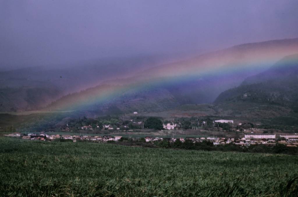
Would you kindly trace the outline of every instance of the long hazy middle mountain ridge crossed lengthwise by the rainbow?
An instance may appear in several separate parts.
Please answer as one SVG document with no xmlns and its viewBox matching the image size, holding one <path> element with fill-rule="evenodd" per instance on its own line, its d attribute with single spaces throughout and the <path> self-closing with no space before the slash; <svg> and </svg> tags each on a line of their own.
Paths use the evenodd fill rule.
<svg viewBox="0 0 298 197">
<path fill-rule="evenodd" d="M 49 105 L 49 108 L 91 111 L 117 108 L 118 112 L 131 112 L 162 111 L 183 104 L 212 103 L 221 92 L 240 85 L 245 78 L 258 74 L 284 56 L 297 52 L 298 39 L 238 45 L 153 67 L 130 78 L 105 81 L 100 86 L 62 97 Z M 266 62 L 259 60 L 268 54 L 270 58 Z M 206 72 L 206 65 L 211 64 L 216 72 L 207 70 L 208 74 L 203 74 Z M 192 77 L 192 73 L 197 75 Z M 168 78 L 171 80 L 168 81 Z M 155 84 L 160 80 L 161 82 Z M 140 88 L 135 84 L 144 85 Z"/>
</svg>

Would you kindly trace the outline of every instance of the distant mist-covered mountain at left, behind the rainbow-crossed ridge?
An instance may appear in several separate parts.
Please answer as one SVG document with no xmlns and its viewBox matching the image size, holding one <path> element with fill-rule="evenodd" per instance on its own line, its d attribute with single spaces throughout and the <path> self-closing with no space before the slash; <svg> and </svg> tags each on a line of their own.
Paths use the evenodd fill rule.
<svg viewBox="0 0 298 197">
<path fill-rule="evenodd" d="M 0 111 L 41 109 L 63 95 L 174 60 L 170 56 L 139 55 L 77 62 L 61 68 L 26 67 L 2 71 Z"/>
</svg>

